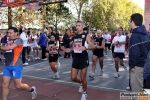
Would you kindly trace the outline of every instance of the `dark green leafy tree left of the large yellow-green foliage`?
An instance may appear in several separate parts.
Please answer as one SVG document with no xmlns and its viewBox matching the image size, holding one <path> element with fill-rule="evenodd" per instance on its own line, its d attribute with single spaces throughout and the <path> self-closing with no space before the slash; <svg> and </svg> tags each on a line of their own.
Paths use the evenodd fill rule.
<svg viewBox="0 0 150 100">
<path fill-rule="evenodd" d="M 58 29 L 58 25 L 61 23 L 70 22 L 72 14 L 69 8 L 63 4 L 53 4 L 46 7 L 46 23 L 47 26 L 53 25 L 55 30 Z"/>
</svg>

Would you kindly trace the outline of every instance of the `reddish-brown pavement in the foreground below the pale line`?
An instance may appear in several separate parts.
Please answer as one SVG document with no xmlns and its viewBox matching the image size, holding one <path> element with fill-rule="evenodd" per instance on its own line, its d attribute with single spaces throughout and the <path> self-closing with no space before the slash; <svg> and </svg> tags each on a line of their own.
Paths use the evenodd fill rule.
<svg viewBox="0 0 150 100">
<path fill-rule="evenodd" d="M 0 83 L 2 83 L 2 76 L 0 76 Z M 27 83 L 30 86 L 36 86 L 38 93 L 36 100 L 80 100 L 81 98 L 81 93 L 78 92 L 78 87 L 75 86 L 30 78 L 23 78 L 23 83 Z M 27 91 L 15 90 L 13 82 L 11 82 L 9 89 L 8 100 L 31 100 L 30 93 Z M 88 88 L 87 93 L 87 100 L 120 100 L 119 92 L 109 92 Z M 0 94 L 2 94 L 1 84 Z"/>
</svg>

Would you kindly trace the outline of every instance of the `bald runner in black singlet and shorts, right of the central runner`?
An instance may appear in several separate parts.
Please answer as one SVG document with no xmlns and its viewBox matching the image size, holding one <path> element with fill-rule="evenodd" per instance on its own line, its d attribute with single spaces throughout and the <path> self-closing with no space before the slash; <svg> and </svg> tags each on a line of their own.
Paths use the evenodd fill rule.
<svg viewBox="0 0 150 100">
<path fill-rule="evenodd" d="M 103 59 L 104 59 L 103 50 L 105 48 L 105 39 L 101 37 L 101 35 L 102 35 L 101 30 L 98 30 L 97 37 L 94 40 L 95 50 L 93 51 L 93 57 L 92 57 L 92 75 L 89 75 L 89 77 L 92 79 L 95 77 L 97 59 L 99 59 L 99 64 L 101 68 L 100 76 L 103 75 Z"/>
</svg>

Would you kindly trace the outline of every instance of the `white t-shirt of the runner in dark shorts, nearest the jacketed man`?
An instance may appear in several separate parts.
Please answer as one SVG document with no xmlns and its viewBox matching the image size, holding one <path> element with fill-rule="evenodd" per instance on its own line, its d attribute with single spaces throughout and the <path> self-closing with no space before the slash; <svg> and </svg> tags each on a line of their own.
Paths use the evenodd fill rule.
<svg viewBox="0 0 150 100">
<path fill-rule="evenodd" d="M 115 42 L 125 42 L 126 41 L 126 36 L 124 35 L 121 35 L 121 36 L 115 36 L 113 41 L 112 41 L 112 44 L 115 43 Z M 118 53 L 124 53 L 125 52 L 125 44 L 119 44 L 117 46 L 115 46 L 114 48 L 114 52 L 118 52 Z"/>
</svg>

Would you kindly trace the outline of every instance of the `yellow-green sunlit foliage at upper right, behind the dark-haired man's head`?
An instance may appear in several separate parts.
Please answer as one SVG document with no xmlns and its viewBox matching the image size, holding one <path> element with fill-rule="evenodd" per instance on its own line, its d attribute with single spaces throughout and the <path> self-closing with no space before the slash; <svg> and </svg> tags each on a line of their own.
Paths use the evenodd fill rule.
<svg viewBox="0 0 150 100">
<path fill-rule="evenodd" d="M 82 13 L 87 26 L 101 30 L 115 30 L 122 26 L 130 29 L 129 20 L 133 13 L 144 14 L 142 8 L 129 0 L 93 0 Z"/>
</svg>

